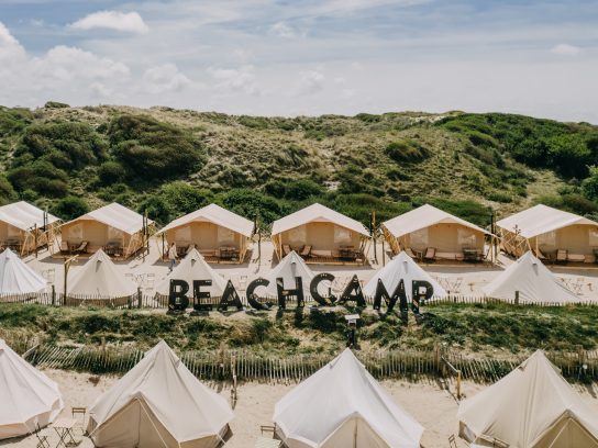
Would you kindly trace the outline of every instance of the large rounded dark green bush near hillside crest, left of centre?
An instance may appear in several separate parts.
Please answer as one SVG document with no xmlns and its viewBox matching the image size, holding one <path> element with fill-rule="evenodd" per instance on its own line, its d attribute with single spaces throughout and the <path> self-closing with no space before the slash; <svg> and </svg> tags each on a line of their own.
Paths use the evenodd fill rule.
<svg viewBox="0 0 598 448">
<path fill-rule="evenodd" d="M 180 178 L 204 163 L 203 147 L 190 133 L 150 116 L 121 115 L 108 135 L 117 159 L 141 180 Z"/>
</svg>

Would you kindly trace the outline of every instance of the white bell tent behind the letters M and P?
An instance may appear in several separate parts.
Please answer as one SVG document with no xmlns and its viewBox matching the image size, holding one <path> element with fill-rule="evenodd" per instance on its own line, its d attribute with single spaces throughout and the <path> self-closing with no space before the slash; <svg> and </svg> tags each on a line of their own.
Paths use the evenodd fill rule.
<svg viewBox="0 0 598 448">
<path fill-rule="evenodd" d="M 379 269 L 374 277 L 364 287 L 364 294 L 374 296 L 378 285 L 378 279 L 383 280 L 389 294 L 392 294 L 399 281 L 405 281 L 405 292 L 407 298 L 411 299 L 411 284 L 413 280 L 425 280 L 434 288 L 434 296 L 443 298 L 446 295 L 444 288 L 440 285 L 428 272 L 425 272 L 416 261 L 409 257 L 405 250 L 399 253 L 384 268 Z"/>
</svg>

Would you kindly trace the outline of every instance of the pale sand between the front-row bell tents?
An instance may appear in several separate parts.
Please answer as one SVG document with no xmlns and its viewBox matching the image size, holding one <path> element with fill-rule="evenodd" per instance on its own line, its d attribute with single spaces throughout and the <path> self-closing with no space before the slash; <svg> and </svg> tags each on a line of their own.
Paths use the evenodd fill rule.
<svg viewBox="0 0 598 448">
<path fill-rule="evenodd" d="M 65 400 L 63 416 L 70 416 L 71 406 L 92 405 L 95 400 L 102 392 L 110 389 L 118 378 L 113 376 L 93 377 L 89 373 L 76 373 L 60 370 L 46 370 L 45 373 L 56 381 Z M 90 381 L 99 380 L 99 381 Z M 443 383 L 440 380 L 433 381 L 424 379 L 420 382 L 407 381 L 383 381 L 381 384 L 390 392 L 395 400 L 400 403 L 418 422 L 420 422 L 425 432 L 423 433 L 422 445 L 427 448 L 446 447 L 447 438 L 451 434 L 457 433 L 456 412 L 458 401 L 454 396 L 454 382 Z M 295 384 L 267 384 L 248 382 L 239 387 L 237 403 L 234 408 L 235 417 L 231 423 L 233 437 L 226 444 L 228 448 L 247 448 L 252 447 L 259 437 L 259 425 L 272 425 L 272 415 L 274 405 L 280 400 Z M 210 384 L 226 400 L 230 400 L 230 385 Z M 484 389 L 485 385 L 465 381 L 463 383 L 464 396 L 473 396 L 476 392 Z M 582 394 L 590 406 L 598 413 L 598 384 L 594 387 L 575 385 L 575 389 Z M 56 433 L 49 427 L 44 429 L 48 434 L 51 447 L 58 443 Z M 76 435 L 79 437 L 80 432 Z M 82 436 L 80 436 L 82 437 Z M 35 448 L 35 436 L 20 439 L 10 439 L 0 441 L 0 446 Z M 458 440 L 459 447 L 467 445 Z M 90 439 L 82 437 L 81 448 L 91 448 L 93 445 Z"/>
</svg>

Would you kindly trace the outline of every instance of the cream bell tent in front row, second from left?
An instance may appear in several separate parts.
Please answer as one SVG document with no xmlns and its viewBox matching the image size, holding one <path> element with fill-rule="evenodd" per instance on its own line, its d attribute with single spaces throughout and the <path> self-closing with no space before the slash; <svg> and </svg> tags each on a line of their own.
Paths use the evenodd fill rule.
<svg viewBox="0 0 598 448">
<path fill-rule="evenodd" d="M 159 341 L 90 410 L 96 447 L 215 448 L 233 412 Z"/>
</svg>

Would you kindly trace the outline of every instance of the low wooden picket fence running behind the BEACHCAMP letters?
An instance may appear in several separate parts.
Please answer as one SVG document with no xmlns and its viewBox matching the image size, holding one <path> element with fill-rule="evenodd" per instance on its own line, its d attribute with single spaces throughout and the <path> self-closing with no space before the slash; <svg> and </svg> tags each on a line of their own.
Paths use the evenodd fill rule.
<svg viewBox="0 0 598 448">
<path fill-rule="evenodd" d="M 213 307 L 218 307 L 219 298 L 212 298 L 210 303 Z M 269 298 L 267 300 L 274 306 L 276 306 L 276 299 Z M 192 306 L 192 299 L 190 299 L 190 307 Z M 241 302 L 245 307 L 248 306 L 245 296 L 241 296 Z M 68 294 L 66 298 L 62 293 L 55 291 L 52 292 L 36 292 L 26 294 L 0 294 L 0 304 L 2 303 L 37 303 L 42 305 L 52 306 L 93 306 L 93 307 L 108 307 L 108 309 L 168 309 L 168 296 L 162 294 L 144 294 L 141 290 L 133 295 L 124 298 L 102 298 L 98 295 L 74 295 Z M 372 306 L 374 304 L 373 298 L 366 298 L 366 303 Z M 535 302 L 535 303 L 520 303 L 514 298 L 512 300 L 485 298 L 481 295 L 447 295 L 444 298 L 432 298 L 424 303 L 424 306 L 434 306 L 442 304 L 508 304 L 518 306 L 567 306 L 567 305 L 583 305 L 583 306 L 598 306 L 598 300 L 579 300 L 575 302 L 555 303 L 555 302 Z M 287 298 L 287 304 L 295 306 L 297 300 L 295 298 Z M 306 298 L 307 305 L 317 305 L 317 302 L 311 298 Z"/>
</svg>

